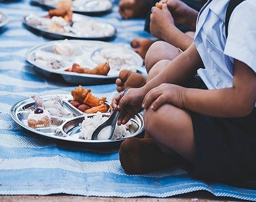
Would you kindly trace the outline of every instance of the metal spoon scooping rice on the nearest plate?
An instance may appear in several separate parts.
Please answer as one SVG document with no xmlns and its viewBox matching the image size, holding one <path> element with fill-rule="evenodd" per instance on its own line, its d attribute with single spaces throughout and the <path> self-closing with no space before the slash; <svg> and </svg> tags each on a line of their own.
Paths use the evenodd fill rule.
<svg viewBox="0 0 256 202">
<path fill-rule="evenodd" d="M 122 94 L 122 97 L 128 92 L 128 89 L 124 90 L 124 93 Z M 112 139 L 113 137 L 113 132 L 115 131 L 116 128 L 116 122 L 118 121 L 118 116 L 120 114 L 119 110 L 114 110 L 111 116 L 109 116 L 109 119 L 99 125 L 95 131 L 93 131 L 92 135 L 92 140 L 98 140 L 98 136 L 100 133 L 107 133 L 108 138 L 107 139 Z M 105 131 L 103 131 L 103 129 Z M 106 138 L 105 138 L 106 139 Z"/>
</svg>

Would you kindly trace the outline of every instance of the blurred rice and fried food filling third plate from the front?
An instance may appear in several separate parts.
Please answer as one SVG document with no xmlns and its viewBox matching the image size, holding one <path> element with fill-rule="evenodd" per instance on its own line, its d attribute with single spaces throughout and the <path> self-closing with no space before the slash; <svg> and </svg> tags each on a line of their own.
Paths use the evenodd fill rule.
<svg viewBox="0 0 256 202">
<path fill-rule="evenodd" d="M 35 27 L 36 30 L 58 34 L 61 38 L 66 34 L 68 34 L 66 37 L 93 39 L 108 38 L 116 34 L 116 28 L 108 22 L 74 13 L 72 14 L 71 20 L 68 18 L 65 16 L 64 18 L 57 15 L 52 16 L 49 12 L 47 15 L 30 14 L 26 16 L 24 23 L 28 27 Z"/>
</svg>

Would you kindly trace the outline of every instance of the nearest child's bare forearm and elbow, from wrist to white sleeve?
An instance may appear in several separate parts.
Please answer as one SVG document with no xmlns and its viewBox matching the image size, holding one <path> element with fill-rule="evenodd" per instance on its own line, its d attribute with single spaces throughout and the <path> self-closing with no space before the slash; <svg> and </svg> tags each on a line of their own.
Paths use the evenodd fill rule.
<svg viewBox="0 0 256 202">
<path fill-rule="evenodd" d="M 191 90 L 182 93 L 184 108 L 211 116 L 246 116 L 256 102 L 256 73 L 234 60 L 233 87 L 220 90 Z"/>
</svg>

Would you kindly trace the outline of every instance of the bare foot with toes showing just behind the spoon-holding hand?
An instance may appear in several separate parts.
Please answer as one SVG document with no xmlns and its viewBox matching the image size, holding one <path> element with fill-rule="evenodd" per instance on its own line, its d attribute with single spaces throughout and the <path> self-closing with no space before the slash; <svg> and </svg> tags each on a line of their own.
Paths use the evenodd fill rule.
<svg viewBox="0 0 256 202">
<path fill-rule="evenodd" d="M 120 71 L 118 79 L 116 79 L 116 90 L 124 91 L 126 88 L 140 88 L 146 83 L 146 77 L 140 73 L 136 73 L 127 69 Z"/>
</svg>

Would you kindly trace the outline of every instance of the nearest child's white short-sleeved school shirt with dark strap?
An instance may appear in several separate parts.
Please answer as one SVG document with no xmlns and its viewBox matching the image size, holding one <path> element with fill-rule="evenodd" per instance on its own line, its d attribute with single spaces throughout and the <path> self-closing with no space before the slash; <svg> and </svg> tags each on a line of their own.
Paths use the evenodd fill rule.
<svg viewBox="0 0 256 202">
<path fill-rule="evenodd" d="M 227 40 L 225 18 L 229 1 L 207 1 L 197 18 L 194 42 L 205 65 L 198 74 L 209 89 L 232 87 L 234 59 L 256 72 L 256 0 L 245 0 L 234 9 Z"/>
</svg>

